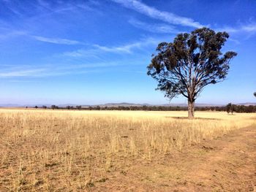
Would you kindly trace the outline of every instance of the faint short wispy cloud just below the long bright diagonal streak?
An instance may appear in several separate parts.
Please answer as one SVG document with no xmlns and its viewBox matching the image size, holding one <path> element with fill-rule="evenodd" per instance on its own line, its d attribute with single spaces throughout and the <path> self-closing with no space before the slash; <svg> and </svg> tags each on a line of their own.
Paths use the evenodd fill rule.
<svg viewBox="0 0 256 192">
<path fill-rule="evenodd" d="M 141 28 L 145 31 L 150 31 L 152 33 L 160 33 L 160 34 L 178 33 L 178 30 L 175 28 L 175 26 L 166 25 L 164 23 L 149 24 L 134 18 L 130 19 L 128 22 L 132 24 L 132 26 L 135 26 L 136 28 Z"/>
</svg>

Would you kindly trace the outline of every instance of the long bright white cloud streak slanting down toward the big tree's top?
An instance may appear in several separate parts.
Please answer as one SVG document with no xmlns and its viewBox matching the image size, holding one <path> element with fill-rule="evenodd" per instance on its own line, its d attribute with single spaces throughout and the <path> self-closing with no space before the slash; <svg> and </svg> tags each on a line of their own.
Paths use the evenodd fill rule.
<svg viewBox="0 0 256 192">
<path fill-rule="evenodd" d="M 112 0 L 118 4 L 121 4 L 124 7 L 129 9 L 133 9 L 137 12 L 140 12 L 143 15 L 147 15 L 150 18 L 158 19 L 165 21 L 167 23 L 181 25 L 181 26 L 189 26 L 195 28 L 203 27 L 202 24 L 193 20 L 192 18 L 185 18 L 178 16 L 172 12 L 163 12 L 154 7 L 150 7 L 147 4 L 143 4 L 143 2 L 138 0 Z"/>
</svg>

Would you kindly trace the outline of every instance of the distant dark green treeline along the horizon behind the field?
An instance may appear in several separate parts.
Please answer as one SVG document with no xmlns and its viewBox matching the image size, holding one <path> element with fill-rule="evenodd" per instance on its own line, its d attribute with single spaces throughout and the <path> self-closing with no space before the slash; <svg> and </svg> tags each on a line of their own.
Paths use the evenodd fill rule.
<svg viewBox="0 0 256 192">
<path fill-rule="evenodd" d="M 185 111 L 187 110 L 187 107 L 173 107 L 173 106 L 118 106 L 118 107 L 104 107 L 104 106 L 90 106 L 90 107 L 82 107 L 80 105 L 78 106 L 67 106 L 67 107 L 58 107 L 56 105 L 52 105 L 51 107 L 37 107 L 35 108 L 43 108 L 43 109 L 67 109 L 67 110 L 131 110 L 131 111 Z M 256 112 L 256 106 L 254 105 L 236 105 L 232 104 L 230 108 L 230 104 L 227 104 L 227 106 L 223 107 L 195 107 L 196 111 L 225 111 L 225 112 Z"/>
</svg>

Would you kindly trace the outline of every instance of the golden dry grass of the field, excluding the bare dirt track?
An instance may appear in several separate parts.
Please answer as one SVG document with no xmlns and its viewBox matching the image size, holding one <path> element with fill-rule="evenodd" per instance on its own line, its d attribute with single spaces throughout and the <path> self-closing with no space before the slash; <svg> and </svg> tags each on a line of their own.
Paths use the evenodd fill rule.
<svg viewBox="0 0 256 192">
<path fill-rule="evenodd" d="M 151 161 L 252 126 L 225 112 L 0 110 L 0 191 L 84 191 L 135 159 Z"/>
</svg>

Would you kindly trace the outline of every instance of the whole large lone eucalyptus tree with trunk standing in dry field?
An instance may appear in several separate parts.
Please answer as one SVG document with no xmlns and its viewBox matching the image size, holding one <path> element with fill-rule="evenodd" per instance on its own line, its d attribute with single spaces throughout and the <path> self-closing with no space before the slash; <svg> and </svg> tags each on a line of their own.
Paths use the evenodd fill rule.
<svg viewBox="0 0 256 192">
<path fill-rule="evenodd" d="M 222 82 L 230 69 L 233 51 L 222 53 L 229 35 L 210 28 L 178 34 L 173 42 L 161 42 L 148 65 L 148 75 L 157 80 L 157 90 L 173 99 L 188 99 L 189 118 L 194 117 L 195 99 L 206 85 Z"/>
</svg>

